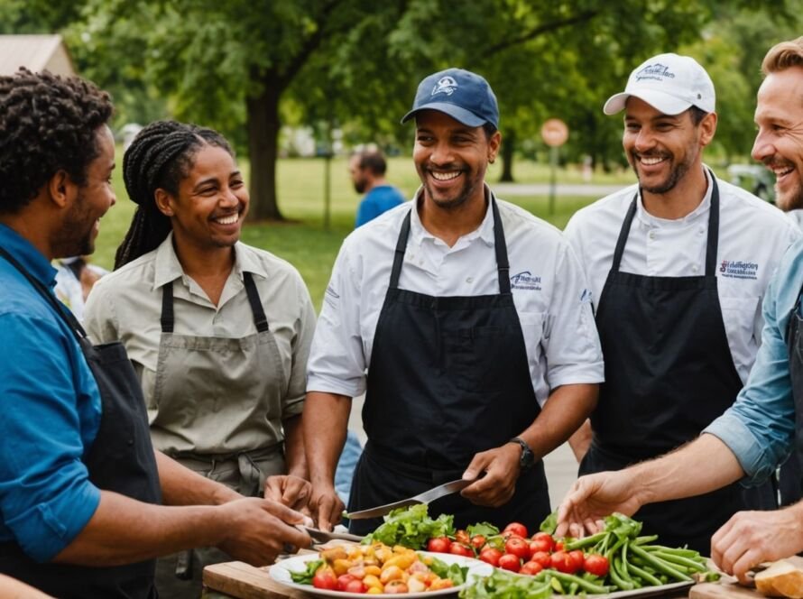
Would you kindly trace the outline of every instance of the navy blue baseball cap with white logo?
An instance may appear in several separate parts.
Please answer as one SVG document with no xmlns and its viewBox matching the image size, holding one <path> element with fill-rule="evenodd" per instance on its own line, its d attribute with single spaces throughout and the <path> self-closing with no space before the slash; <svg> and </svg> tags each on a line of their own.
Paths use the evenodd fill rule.
<svg viewBox="0 0 803 599">
<path fill-rule="evenodd" d="M 494 90 L 476 73 L 464 69 L 446 69 L 424 78 L 415 94 L 412 110 L 404 115 L 406 123 L 420 110 L 438 110 L 469 127 L 485 123 L 499 128 L 499 106 Z"/>
</svg>

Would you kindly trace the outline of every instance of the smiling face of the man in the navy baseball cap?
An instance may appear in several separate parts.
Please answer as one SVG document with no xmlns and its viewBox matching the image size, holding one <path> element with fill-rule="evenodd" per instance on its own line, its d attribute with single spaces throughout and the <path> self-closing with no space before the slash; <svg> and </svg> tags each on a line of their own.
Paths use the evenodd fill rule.
<svg viewBox="0 0 803 599">
<path fill-rule="evenodd" d="M 469 127 L 437 110 L 416 115 L 412 159 L 425 199 L 455 209 L 470 199 L 485 201 L 485 170 L 499 151 L 502 136 L 490 139 L 482 127 Z"/>
</svg>

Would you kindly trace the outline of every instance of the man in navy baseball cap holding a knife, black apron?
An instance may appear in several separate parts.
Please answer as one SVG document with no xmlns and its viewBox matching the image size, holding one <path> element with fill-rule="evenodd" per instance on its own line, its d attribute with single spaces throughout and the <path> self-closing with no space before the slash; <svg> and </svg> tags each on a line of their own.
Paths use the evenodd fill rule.
<svg viewBox="0 0 803 599">
<path fill-rule="evenodd" d="M 502 142 L 485 78 L 424 78 L 410 120 L 421 187 L 346 238 L 318 320 L 303 417 L 312 508 L 323 528 L 340 520 L 332 475 L 365 392 L 350 512 L 462 478 L 432 517 L 537 530 L 550 511 L 541 457 L 602 381 L 582 267 L 555 227 L 485 184 Z M 358 516 L 357 533 L 381 522 Z"/>
</svg>

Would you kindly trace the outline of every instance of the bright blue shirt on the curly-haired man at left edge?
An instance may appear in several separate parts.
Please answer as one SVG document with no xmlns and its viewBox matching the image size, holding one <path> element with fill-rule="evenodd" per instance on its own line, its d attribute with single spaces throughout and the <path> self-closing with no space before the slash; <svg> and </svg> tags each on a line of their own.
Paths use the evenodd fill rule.
<svg viewBox="0 0 803 599">
<path fill-rule="evenodd" d="M 0 225 L 0 246 L 52 288 L 56 270 L 32 244 Z M 75 336 L 0 258 L 0 542 L 43 562 L 87 525 L 100 491 L 81 460 L 101 410 Z"/>
</svg>

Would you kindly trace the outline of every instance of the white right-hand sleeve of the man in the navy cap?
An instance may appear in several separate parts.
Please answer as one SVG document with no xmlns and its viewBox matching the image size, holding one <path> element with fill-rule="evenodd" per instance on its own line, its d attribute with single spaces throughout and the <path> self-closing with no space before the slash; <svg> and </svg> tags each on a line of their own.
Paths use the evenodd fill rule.
<svg viewBox="0 0 803 599">
<path fill-rule="evenodd" d="M 602 347 L 591 309 L 591 292 L 574 250 L 563 244 L 555 269 L 555 292 L 542 341 L 550 389 L 605 380 Z"/>
</svg>

